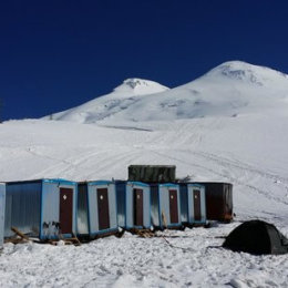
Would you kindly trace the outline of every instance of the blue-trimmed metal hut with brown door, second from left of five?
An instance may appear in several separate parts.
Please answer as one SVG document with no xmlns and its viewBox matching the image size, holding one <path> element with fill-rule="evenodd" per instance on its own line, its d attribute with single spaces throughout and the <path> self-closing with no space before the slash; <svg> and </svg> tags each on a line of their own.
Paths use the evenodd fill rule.
<svg viewBox="0 0 288 288">
<path fill-rule="evenodd" d="M 95 238 L 117 232 L 115 184 L 110 181 L 79 183 L 78 235 Z"/>
</svg>

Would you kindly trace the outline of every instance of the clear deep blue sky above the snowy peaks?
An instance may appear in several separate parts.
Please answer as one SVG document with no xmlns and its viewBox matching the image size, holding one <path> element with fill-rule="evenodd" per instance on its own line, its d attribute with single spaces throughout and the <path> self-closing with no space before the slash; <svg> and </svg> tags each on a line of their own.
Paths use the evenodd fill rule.
<svg viewBox="0 0 288 288">
<path fill-rule="evenodd" d="M 40 117 L 127 78 L 169 88 L 228 60 L 288 73 L 288 1 L 7 0 L 1 117 Z"/>
</svg>

